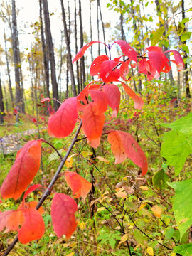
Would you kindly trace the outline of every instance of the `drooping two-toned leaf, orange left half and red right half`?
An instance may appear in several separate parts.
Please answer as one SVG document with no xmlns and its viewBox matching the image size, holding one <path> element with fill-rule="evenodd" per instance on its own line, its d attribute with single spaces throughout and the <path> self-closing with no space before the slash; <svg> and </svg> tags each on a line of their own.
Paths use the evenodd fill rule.
<svg viewBox="0 0 192 256">
<path fill-rule="evenodd" d="M 142 168 L 142 175 L 146 174 L 148 168 L 146 156 L 131 134 L 112 131 L 108 135 L 108 141 L 112 145 L 115 164 L 122 163 L 128 157 L 134 164 Z"/>
</svg>

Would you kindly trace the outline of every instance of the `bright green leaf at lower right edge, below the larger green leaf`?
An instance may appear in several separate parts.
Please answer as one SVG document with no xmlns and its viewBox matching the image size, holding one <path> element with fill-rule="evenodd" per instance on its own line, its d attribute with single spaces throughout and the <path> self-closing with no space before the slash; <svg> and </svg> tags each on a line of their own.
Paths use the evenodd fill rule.
<svg viewBox="0 0 192 256">
<path fill-rule="evenodd" d="M 192 178 L 168 184 L 175 190 L 173 210 L 181 240 L 186 230 L 192 225 Z"/>
</svg>

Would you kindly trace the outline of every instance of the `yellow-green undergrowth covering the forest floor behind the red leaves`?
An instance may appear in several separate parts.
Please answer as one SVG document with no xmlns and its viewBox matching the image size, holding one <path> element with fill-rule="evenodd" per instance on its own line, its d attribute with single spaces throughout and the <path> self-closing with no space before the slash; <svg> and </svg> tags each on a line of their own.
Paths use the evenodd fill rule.
<svg viewBox="0 0 192 256">
<path fill-rule="evenodd" d="M 74 155 L 67 166 L 63 167 L 63 173 L 66 170 L 75 171 L 88 181 L 92 182 L 92 178 L 95 181 L 95 192 L 92 193 L 91 201 L 90 196 L 87 196 L 85 201 L 76 199 L 77 230 L 70 240 L 65 240 L 64 236 L 56 237 L 50 218 L 52 193 L 43 204 L 43 219 L 46 223 L 43 238 L 27 245 L 18 243 L 10 255 L 129 255 L 129 242 L 132 255 L 176 256 L 172 249 L 178 244 L 185 245 L 190 240 L 190 232 L 186 230 L 180 239 L 174 210 L 171 207 L 174 189 L 168 186 L 168 183 L 191 177 L 191 162 L 187 159 L 184 171 L 175 176 L 174 167 L 168 166 L 160 155 L 163 134 L 169 130 L 162 127 L 161 123 L 173 122 L 185 116 L 187 112 L 185 104 L 180 103 L 175 108 L 171 105 L 170 99 L 165 99 L 165 95 L 156 97 L 155 94 L 151 95 L 150 100 L 146 98 L 142 110 L 134 110 L 132 100 L 122 100 L 119 114 L 114 119 L 111 118 L 109 110 L 104 131 L 119 129 L 132 134 L 149 161 L 146 176 L 138 177 L 140 170 L 129 159 L 122 164 L 114 165 L 114 156 L 106 134 L 95 150 L 95 159 L 92 159 L 92 148 L 87 145 L 85 139 L 82 139 L 75 144 L 71 153 Z M 73 139 L 73 134 L 65 139 L 49 137 L 46 132 L 42 135 L 60 151 L 62 156 Z M 84 137 L 82 132 L 79 137 Z M 34 138 L 35 135 L 31 135 L 26 137 L 25 141 Z M 41 169 L 33 183 L 42 183 L 46 188 L 60 160 L 48 144 L 42 144 L 42 152 Z M 103 159 L 100 159 L 100 156 Z M 14 157 L 15 154 L 1 158 L 3 177 L 14 162 Z M 55 183 L 54 191 L 73 196 L 63 174 Z M 41 190 L 35 191 L 28 196 L 28 200 L 38 201 L 41 195 Z M 16 203 L 18 206 L 21 201 Z M 0 205 L 0 210 L 14 208 L 15 203 L 11 200 Z M 118 221 L 123 225 L 124 233 L 120 230 Z M 0 247 L 6 248 L 14 239 L 14 235 L 16 233 L 1 233 Z"/>
</svg>

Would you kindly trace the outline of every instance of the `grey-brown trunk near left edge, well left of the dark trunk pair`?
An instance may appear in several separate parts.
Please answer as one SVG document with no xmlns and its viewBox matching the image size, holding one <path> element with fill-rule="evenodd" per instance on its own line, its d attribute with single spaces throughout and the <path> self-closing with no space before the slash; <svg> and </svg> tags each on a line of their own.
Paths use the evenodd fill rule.
<svg viewBox="0 0 192 256">
<path fill-rule="evenodd" d="M 16 5 L 15 0 L 12 0 L 12 47 L 14 52 L 14 68 L 15 68 L 15 82 L 16 82 L 16 109 L 18 112 L 24 112 L 24 102 L 22 100 L 22 91 L 21 91 L 21 75 L 19 73 L 20 70 L 20 62 L 19 62 L 19 50 L 18 50 L 18 31 L 16 24 Z"/>
</svg>

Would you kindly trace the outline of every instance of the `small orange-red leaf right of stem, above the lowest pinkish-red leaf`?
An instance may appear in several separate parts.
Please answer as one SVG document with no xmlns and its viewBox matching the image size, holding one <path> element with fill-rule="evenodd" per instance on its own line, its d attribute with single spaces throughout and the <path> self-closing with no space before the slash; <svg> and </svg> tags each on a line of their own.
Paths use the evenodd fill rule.
<svg viewBox="0 0 192 256">
<path fill-rule="evenodd" d="M 90 192 L 92 184 L 85 178 L 73 171 L 65 171 L 65 180 L 72 189 L 74 198 L 82 198 L 85 200 L 87 193 Z"/>
</svg>

